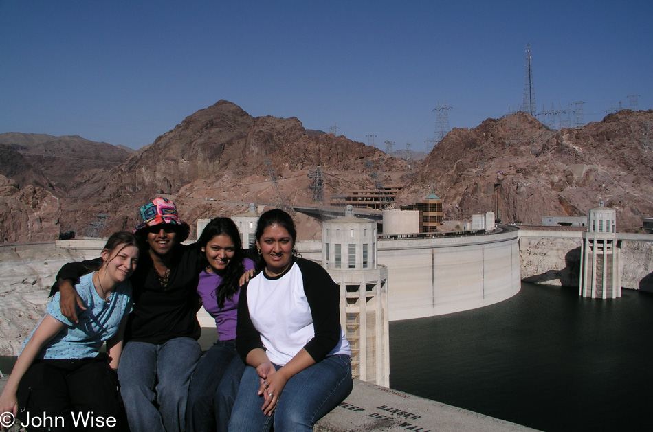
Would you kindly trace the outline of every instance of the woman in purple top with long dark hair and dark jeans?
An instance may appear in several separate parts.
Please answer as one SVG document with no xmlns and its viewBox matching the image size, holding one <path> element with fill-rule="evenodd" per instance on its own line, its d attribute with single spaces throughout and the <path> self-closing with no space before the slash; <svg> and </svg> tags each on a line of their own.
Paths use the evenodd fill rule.
<svg viewBox="0 0 653 432">
<path fill-rule="evenodd" d="M 254 268 L 254 262 L 244 257 L 238 228 L 230 218 L 211 220 L 197 245 L 205 264 L 197 293 L 204 309 L 215 319 L 219 339 L 201 356 L 190 379 L 186 429 L 188 432 L 226 430 L 221 428 L 228 424 L 233 398 L 245 369 L 236 353 L 235 341 L 239 278 Z M 219 384 L 221 391 L 216 396 Z"/>
</svg>

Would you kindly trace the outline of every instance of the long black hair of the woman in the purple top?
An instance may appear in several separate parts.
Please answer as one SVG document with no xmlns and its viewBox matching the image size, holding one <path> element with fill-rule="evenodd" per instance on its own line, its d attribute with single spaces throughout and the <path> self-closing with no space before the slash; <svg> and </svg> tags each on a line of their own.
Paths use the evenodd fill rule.
<svg viewBox="0 0 653 432">
<path fill-rule="evenodd" d="M 202 231 L 201 236 L 197 240 L 197 251 L 200 255 L 200 259 L 203 262 L 203 266 L 208 266 L 208 261 L 206 260 L 206 253 L 202 252 L 202 248 L 206 250 L 206 245 L 212 240 L 215 236 L 220 236 L 221 234 L 231 238 L 231 241 L 234 243 L 234 257 L 229 261 L 225 271 L 223 272 L 222 282 L 219 286 L 215 287 L 213 292 L 214 297 L 217 299 L 218 306 L 223 308 L 225 306 L 225 299 L 230 299 L 238 292 L 238 280 L 241 275 L 245 273 L 245 266 L 243 266 L 243 259 L 245 254 L 243 253 L 243 242 L 241 242 L 241 234 L 238 231 L 238 227 L 233 220 L 230 218 L 214 218 L 212 219 L 204 230 Z"/>
</svg>

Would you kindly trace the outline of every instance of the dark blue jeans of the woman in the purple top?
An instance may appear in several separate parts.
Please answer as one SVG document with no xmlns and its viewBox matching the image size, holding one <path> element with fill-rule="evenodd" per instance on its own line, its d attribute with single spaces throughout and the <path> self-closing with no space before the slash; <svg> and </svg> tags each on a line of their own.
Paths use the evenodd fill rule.
<svg viewBox="0 0 653 432">
<path fill-rule="evenodd" d="M 245 363 L 236 341 L 217 341 L 197 362 L 190 378 L 186 432 L 226 431 Z"/>
</svg>

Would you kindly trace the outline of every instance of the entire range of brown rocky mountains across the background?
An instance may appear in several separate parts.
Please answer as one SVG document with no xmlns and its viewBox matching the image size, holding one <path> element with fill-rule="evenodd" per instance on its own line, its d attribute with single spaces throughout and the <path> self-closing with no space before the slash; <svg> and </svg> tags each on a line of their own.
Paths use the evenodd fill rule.
<svg viewBox="0 0 653 432">
<path fill-rule="evenodd" d="M 408 165 L 344 136 L 306 130 L 296 117 L 252 117 L 221 100 L 122 162 L 78 168 L 65 196 L 47 189 L 43 179 L 16 179 L 15 172 L 8 176 L 7 164 L 0 166 L 6 177 L 0 183 L 2 241 L 51 238 L 60 231 L 106 236 L 131 229 L 140 205 L 157 194 L 175 198 L 191 226 L 197 218 L 243 212 L 250 202 L 321 205 L 312 202 L 310 188 L 309 174 L 316 166 L 324 173 L 327 200 L 381 181 L 406 185 L 399 205 L 435 192 L 444 199 L 449 219 L 468 220 L 494 209 L 506 222 L 539 224 L 541 216 L 584 215 L 604 201 L 617 209 L 620 229 L 639 227 L 641 216 L 653 215 L 652 124 L 653 111 L 624 110 L 581 128 L 549 130 L 519 113 L 470 130 L 454 129 L 421 163 Z M 0 141 L 7 141 L 3 135 Z M 33 142 L 21 144 L 14 137 L 12 145 L 23 146 L 23 152 L 52 143 L 50 138 L 29 135 L 25 139 Z M 52 175 L 51 160 L 34 161 L 29 165 L 45 164 L 46 177 Z M 25 190 L 21 181 L 32 189 Z M 12 227 L 8 236 L 5 221 L 16 217 L 12 212 L 18 203 L 30 203 L 19 212 L 32 219 L 14 220 L 7 225 Z M 298 218 L 300 238 L 320 235 L 315 221 Z M 34 220 L 41 220 L 42 233 L 34 230 Z"/>
</svg>

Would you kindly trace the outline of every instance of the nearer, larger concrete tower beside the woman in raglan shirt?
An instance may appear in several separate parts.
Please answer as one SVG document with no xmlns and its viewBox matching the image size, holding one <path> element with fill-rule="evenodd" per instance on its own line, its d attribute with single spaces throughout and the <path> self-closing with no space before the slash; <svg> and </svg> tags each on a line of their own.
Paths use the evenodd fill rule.
<svg viewBox="0 0 653 432">
<path fill-rule="evenodd" d="M 344 217 L 325 221 L 322 266 L 340 284 L 353 377 L 389 387 L 388 269 L 377 264 L 377 223 L 356 218 L 351 205 Z"/>
</svg>

